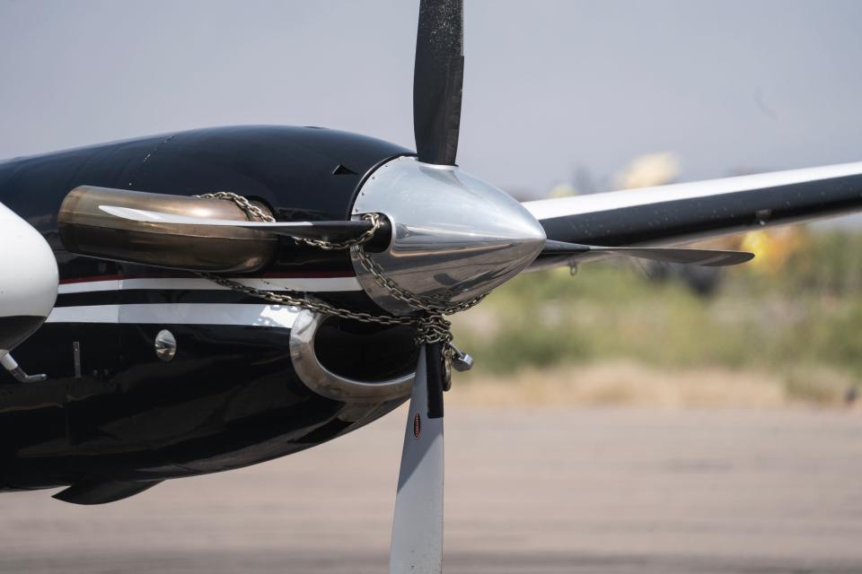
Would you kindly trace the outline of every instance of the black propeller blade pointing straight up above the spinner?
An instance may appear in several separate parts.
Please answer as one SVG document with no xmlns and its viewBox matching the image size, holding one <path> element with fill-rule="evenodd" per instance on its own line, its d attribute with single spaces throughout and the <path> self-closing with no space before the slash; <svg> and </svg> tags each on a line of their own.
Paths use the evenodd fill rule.
<svg viewBox="0 0 862 574">
<path fill-rule="evenodd" d="M 413 68 L 413 133 L 419 161 L 455 165 L 463 83 L 463 0 L 422 0 Z"/>
</svg>

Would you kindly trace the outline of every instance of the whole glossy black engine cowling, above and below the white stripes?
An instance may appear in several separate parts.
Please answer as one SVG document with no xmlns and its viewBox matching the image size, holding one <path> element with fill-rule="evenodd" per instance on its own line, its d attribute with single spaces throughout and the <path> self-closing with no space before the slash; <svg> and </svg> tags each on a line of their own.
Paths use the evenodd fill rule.
<svg viewBox="0 0 862 574">
<path fill-rule="evenodd" d="M 79 185 L 187 196 L 228 190 L 268 204 L 280 220 L 346 220 L 363 178 L 409 153 L 310 127 L 195 130 L 4 161 L 0 202 L 48 239 L 61 282 L 160 277 L 163 270 L 67 253 L 57 235 L 66 193 Z M 267 272 L 353 274 L 344 253 L 290 239 Z M 360 291 L 320 296 L 373 308 Z M 61 294 L 57 307 L 136 302 L 259 301 L 215 290 L 100 291 Z M 178 341 L 171 362 L 154 354 L 154 336 L 163 328 Z M 15 357 L 48 380 L 20 385 L 0 371 L 0 490 L 81 484 L 91 485 L 81 486 L 87 492 L 115 491 L 92 485 L 228 470 L 320 444 L 400 404 L 357 407 L 315 395 L 295 375 L 289 335 L 286 328 L 261 326 L 42 326 Z"/>
</svg>

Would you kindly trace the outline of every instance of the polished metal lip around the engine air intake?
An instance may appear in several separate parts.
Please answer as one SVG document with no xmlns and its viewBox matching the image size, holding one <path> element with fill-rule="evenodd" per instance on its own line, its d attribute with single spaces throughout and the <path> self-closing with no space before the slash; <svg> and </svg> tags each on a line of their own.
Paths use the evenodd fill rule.
<svg viewBox="0 0 862 574">
<path fill-rule="evenodd" d="M 389 380 L 362 381 L 342 377 L 324 367 L 314 352 L 314 336 L 327 317 L 305 309 L 290 331 L 290 357 L 306 387 L 318 395 L 344 402 L 375 403 L 410 395 L 413 373 Z"/>
</svg>

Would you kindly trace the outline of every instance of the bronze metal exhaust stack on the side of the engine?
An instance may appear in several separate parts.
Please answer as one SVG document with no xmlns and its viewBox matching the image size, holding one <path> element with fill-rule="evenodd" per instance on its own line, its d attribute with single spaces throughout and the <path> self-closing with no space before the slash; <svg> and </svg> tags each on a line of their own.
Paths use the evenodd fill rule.
<svg viewBox="0 0 862 574">
<path fill-rule="evenodd" d="M 129 208 L 247 222 L 232 202 L 148 194 L 107 187 L 75 187 L 57 217 L 60 239 L 72 253 L 211 273 L 257 271 L 274 257 L 277 238 L 238 227 L 141 222 L 103 209 Z"/>
</svg>

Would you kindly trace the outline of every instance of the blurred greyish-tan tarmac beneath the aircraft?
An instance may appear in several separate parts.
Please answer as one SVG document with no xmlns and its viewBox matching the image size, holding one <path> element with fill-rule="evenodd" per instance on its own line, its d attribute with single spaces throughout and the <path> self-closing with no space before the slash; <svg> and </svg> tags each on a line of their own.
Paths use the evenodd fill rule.
<svg viewBox="0 0 862 574">
<path fill-rule="evenodd" d="M 0 572 L 385 572 L 405 418 L 102 507 L 0 495 Z M 862 572 L 858 412 L 450 407 L 446 425 L 447 573 Z"/>
</svg>

